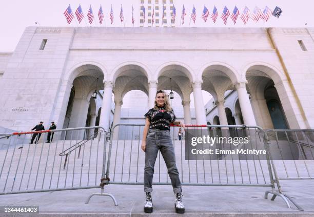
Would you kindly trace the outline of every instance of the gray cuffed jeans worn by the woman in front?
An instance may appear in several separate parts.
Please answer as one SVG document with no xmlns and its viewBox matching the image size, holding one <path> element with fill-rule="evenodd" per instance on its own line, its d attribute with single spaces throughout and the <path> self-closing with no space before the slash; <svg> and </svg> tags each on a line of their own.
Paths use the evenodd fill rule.
<svg viewBox="0 0 314 217">
<path fill-rule="evenodd" d="M 152 191 L 152 180 L 156 157 L 160 150 L 167 165 L 174 193 L 181 192 L 181 182 L 178 169 L 175 166 L 174 148 L 170 137 L 170 130 L 150 129 L 146 137 L 144 190 Z"/>
</svg>

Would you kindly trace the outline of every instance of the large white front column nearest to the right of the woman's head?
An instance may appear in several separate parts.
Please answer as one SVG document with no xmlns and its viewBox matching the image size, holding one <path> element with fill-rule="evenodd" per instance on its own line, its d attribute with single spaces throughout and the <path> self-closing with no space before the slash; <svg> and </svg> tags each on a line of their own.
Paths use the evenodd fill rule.
<svg viewBox="0 0 314 217">
<path fill-rule="evenodd" d="M 202 82 L 193 82 L 192 86 L 197 124 L 206 124 L 206 114 L 202 95 Z"/>
</svg>

